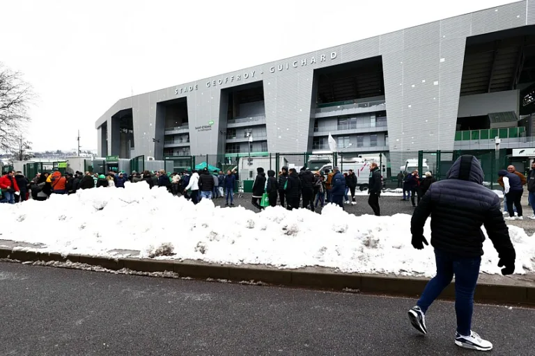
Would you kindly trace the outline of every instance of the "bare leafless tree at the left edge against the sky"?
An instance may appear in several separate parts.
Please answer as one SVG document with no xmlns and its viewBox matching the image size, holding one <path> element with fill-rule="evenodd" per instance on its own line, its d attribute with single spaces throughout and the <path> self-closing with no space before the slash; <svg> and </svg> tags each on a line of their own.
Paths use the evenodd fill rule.
<svg viewBox="0 0 535 356">
<path fill-rule="evenodd" d="M 28 106 L 35 98 L 21 72 L 0 63 L 0 151 L 11 152 L 20 145 L 24 124 L 30 121 Z"/>
</svg>

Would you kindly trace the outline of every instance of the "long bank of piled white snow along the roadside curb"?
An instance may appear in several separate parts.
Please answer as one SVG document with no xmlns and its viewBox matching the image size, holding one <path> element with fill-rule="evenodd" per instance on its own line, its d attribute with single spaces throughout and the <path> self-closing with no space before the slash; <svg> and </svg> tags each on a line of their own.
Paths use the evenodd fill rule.
<svg viewBox="0 0 535 356">
<path fill-rule="evenodd" d="M 0 204 L 3 238 L 43 243 L 40 251 L 118 257 L 114 249 L 140 250 L 148 257 L 162 244 L 173 256 L 222 264 L 269 264 L 281 268 L 324 266 L 344 272 L 432 276 L 432 248 L 410 245 L 410 216 L 354 216 L 328 206 L 319 215 L 281 207 L 254 213 L 219 208 L 204 200 L 194 206 L 164 189 L 127 184 L 76 195 L 52 195 L 46 202 Z M 515 273 L 534 273 L 535 238 L 509 226 L 517 252 Z M 431 232 L 426 226 L 426 236 Z M 24 248 L 31 250 L 31 248 Z M 483 244 L 481 272 L 499 273 L 497 252 Z"/>
</svg>

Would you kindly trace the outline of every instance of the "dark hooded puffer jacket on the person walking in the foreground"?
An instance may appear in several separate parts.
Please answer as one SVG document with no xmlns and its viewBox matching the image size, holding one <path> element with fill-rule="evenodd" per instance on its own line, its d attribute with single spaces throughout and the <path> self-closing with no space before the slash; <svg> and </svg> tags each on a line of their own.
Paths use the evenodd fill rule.
<svg viewBox="0 0 535 356">
<path fill-rule="evenodd" d="M 431 184 L 412 215 L 410 232 L 422 236 L 431 214 L 431 245 L 459 257 L 483 254 L 485 237 L 493 241 L 499 257 L 515 258 L 499 198 L 483 185 L 483 170 L 474 156 L 460 156 L 447 172 L 447 179 Z"/>
</svg>

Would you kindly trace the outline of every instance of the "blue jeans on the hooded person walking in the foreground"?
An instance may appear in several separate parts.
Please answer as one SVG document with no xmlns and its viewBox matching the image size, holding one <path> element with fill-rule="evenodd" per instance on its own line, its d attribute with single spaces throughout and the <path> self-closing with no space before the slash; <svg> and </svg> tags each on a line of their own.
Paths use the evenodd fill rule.
<svg viewBox="0 0 535 356">
<path fill-rule="evenodd" d="M 437 275 L 430 280 L 424 293 L 417 302 L 424 314 L 433 301 L 440 296 L 455 275 L 455 312 L 457 314 L 457 332 L 470 335 L 472 327 L 472 312 L 474 311 L 474 292 L 481 257 L 463 258 L 435 249 Z"/>
</svg>

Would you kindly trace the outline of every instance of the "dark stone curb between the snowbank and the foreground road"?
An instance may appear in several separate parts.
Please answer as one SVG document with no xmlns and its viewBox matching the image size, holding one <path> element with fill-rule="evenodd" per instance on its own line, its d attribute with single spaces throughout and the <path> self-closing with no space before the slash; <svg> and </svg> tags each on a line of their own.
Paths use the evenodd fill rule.
<svg viewBox="0 0 535 356">
<path fill-rule="evenodd" d="M 0 259 L 18 261 L 60 261 L 77 262 L 91 266 L 101 266 L 109 270 L 127 268 L 139 272 L 173 272 L 180 277 L 195 279 L 211 278 L 232 282 L 258 281 L 267 284 L 305 287 L 311 289 L 329 289 L 335 291 L 360 291 L 392 296 L 416 298 L 424 290 L 428 279 L 420 277 L 403 277 L 387 275 L 364 275 L 359 273 L 336 273 L 326 268 L 299 268 L 281 270 L 270 266 L 231 266 L 207 264 L 199 261 L 163 261 L 153 259 L 109 259 L 80 254 L 62 256 L 59 253 L 42 253 L 35 251 L 11 250 L 0 248 Z M 453 284 L 447 286 L 441 298 L 455 298 Z M 535 305 L 535 286 L 518 286 L 505 284 L 477 284 L 474 300 L 477 302 L 495 302 L 503 304 Z"/>
</svg>

